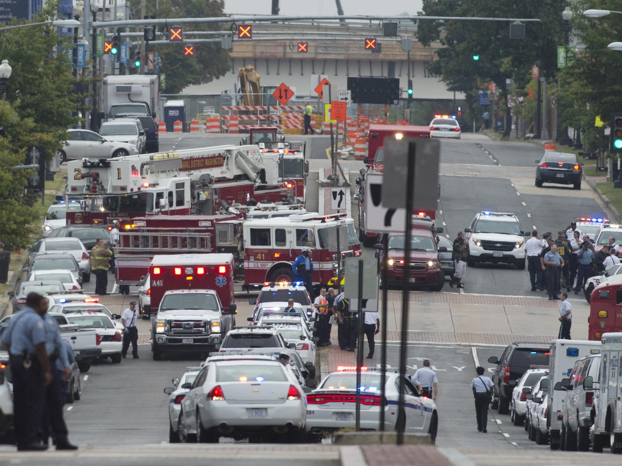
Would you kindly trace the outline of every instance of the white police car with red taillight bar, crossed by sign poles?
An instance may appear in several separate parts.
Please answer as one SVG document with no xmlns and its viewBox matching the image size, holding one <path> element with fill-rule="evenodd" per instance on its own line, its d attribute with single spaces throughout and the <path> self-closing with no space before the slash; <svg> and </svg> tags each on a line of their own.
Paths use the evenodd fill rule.
<svg viewBox="0 0 622 466">
<path fill-rule="evenodd" d="M 381 372 L 361 367 L 361 430 L 378 430 L 381 398 Z M 393 431 L 397 423 L 399 373 L 386 373 L 384 430 Z M 439 414 L 436 404 L 422 396 L 408 378 L 404 379 L 405 432 L 430 434 L 436 440 Z M 326 432 L 355 427 L 356 367 L 338 367 L 320 386 L 307 394 L 307 438 L 317 439 Z"/>
</svg>

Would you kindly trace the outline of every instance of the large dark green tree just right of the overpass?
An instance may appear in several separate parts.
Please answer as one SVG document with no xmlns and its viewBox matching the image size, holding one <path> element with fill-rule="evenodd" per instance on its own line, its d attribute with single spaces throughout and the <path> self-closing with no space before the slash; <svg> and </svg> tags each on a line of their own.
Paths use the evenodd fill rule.
<svg viewBox="0 0 622 466">
<path fill-rule="evenodd" d="M 478 0 L 424 0 L 420 15 L 466 17 L 539 18 L 525 25 L 525 39 L 509 39 L 509 23 L 499 21 L 419 21 L 417 37 L 424 45 L 440 40 L 438 59 L 429 70 L 441 76 L 448 89 L 469 93 L 494 81 L 499 101 L 508 95 L 506 80 L 518 86 L 529 81 L 529 71 L 539 65 L 541 75 L 555 76 L 557 44 L 563 37 L 562 10 L 557 0 L 481 2 Z M 476 55 L 478 60 L 474 60 Z M 503 104 L 504 106 L 504 104 Z M 505 135 L 511 128 L 506 108 Z"/>
</svg>

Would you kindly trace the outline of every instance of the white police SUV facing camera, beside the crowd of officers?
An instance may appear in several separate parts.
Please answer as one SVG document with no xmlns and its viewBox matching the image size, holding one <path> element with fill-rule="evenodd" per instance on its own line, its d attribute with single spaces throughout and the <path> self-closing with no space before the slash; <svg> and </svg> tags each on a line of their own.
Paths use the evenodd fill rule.
<svg viewBox="0 0 622 466">
<path fill-rule="evenodd" d="M 469 267 L 477 262 L 503 262 L 525 268 L 525 232 L 514 214 L 480 212 L 464 231 Z"/>
</svg>

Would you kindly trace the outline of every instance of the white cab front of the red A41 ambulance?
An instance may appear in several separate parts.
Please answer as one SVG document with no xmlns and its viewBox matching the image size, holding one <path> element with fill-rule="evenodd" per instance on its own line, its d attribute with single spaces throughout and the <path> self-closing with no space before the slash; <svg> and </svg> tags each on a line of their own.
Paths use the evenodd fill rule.
<svg viewBox="0 0 622 466">
<path fill-rule="evenodd" d="M 234 326 L 235 316 L 225 312 L 216 291 L 166 291 L 151 327 L 153 358 L 165 352 L 207 354 Z"/>
</svg>

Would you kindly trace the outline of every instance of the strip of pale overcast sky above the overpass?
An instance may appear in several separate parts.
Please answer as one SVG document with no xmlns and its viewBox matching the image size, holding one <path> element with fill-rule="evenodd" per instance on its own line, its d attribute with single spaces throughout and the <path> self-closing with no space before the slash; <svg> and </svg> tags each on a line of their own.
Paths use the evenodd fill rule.
<svg viewBox="0 0 622 466">
<path fill-rule="evenodd" d="M 281 0 L 281 14 L 309 16 L 312 14 L 336 15 L 335 0 Z M 407 12 L 414 16 L 420 11 L 422 0 L 341 0 L 346 15 L 364 14 L 393 16 Z M 225 0 L 227 14 L 271 14 L 271 0 Z"/>
</svg>

